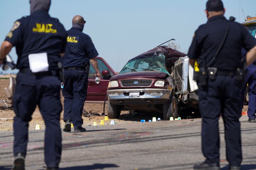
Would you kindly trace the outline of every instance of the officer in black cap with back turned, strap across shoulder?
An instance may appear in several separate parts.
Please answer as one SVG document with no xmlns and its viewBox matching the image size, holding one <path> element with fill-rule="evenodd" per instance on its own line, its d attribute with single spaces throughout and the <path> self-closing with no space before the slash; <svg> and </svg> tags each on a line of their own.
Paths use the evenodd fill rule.
<svg viewBox="0 0 256 170">
<path fill-rule="evenodd" d="M 220 113 L 225 126 L 230 169 L 240 169 L 241 48 L 250 50 L 246 57 L 246 64 L 249 65 L 256 58 L 256 42 L 243 25 L 228 21 L 223 16 L 225 9 L 221 0 L 207 1 L 205 13 L 208 21 L 196 30 L 188 51 L 189 63 L 192 66 L 195 63 L 194 78 L 199 88 L 202 115 L 202 152 L 206 157 L 194 169 L 220 169 Z"/>
</svg>

